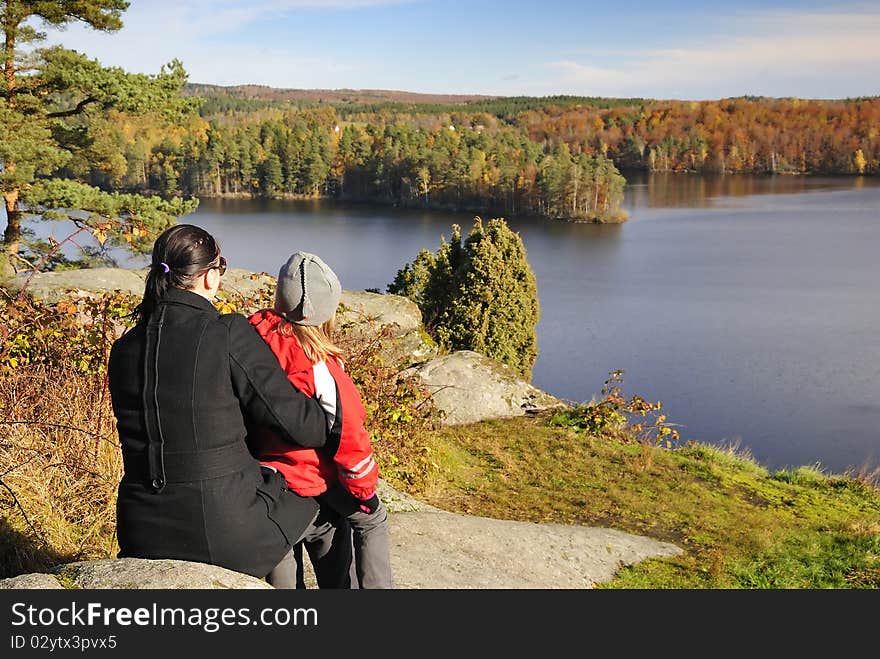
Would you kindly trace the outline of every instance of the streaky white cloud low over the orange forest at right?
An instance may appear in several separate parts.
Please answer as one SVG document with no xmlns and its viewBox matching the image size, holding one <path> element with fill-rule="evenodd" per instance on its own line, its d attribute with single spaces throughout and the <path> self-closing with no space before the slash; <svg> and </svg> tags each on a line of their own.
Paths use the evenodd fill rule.
<svg viewBox="0 0 880 659">
<path fill-rule="evenodd" d="M 740 94 L 839 97 L 880 93 L 880 13 L 768 13 L 740 33 L 676 48 L 593 53 L 546 67 L 532 93 L 717 98 Z M 801 91 L 798 91 L 801 90 Z M 805 91 L 808 90 L 808 91 Z"/>
</svg>

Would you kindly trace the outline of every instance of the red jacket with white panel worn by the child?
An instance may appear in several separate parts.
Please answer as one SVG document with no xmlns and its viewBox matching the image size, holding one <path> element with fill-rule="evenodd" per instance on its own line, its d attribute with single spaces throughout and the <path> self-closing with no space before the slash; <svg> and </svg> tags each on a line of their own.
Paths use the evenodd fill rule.
<svg viewBox="0 0 880 659">
<path fill-rule="evenodd" d="M 379 468 L 364 427 L 367 411 L 360 392 L 340 361 L 331 358 L 313 364 L 295 336 L 279 331 L 282 320 L 270 309 L 248 318 L 291 384 L 321 403 L 330 437 L 322 449 L 293 448 L 264 428 L 254 443 L 258 459 L 284 474 L 288 487 L 302 496 L 321 494 L 338 480 L 355 498 L 367 500 L 376 492 Z"/>
</svg>

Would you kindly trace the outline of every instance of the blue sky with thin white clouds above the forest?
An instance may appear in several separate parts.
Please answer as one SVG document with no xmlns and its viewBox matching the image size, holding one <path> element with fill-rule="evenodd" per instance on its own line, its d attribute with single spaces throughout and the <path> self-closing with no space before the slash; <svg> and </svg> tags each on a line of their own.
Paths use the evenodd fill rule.
<svg viewBox="0 0 880 659">
<path fill-rule="evenodd" d="M 125 27 L 50 31 L 191 82 L 703 100 L 880 95 L 880 0 L 132 0 Z"/>
</svg>

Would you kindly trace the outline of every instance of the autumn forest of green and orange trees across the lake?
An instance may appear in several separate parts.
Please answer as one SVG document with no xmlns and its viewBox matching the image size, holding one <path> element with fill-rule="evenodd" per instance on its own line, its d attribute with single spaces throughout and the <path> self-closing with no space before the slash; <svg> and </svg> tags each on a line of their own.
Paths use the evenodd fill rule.
<svg viewBox="0 0 880 659">
<path fill-rule="evenodd" d="M 331 197 L 621 221 L 621 170 L 880 172 L 878 98 L 445 103 L 260 87 L 185 93 L 199 112 L 173 127 L 106 115 L 71 174 L 166 197 Z"/>
</svg>

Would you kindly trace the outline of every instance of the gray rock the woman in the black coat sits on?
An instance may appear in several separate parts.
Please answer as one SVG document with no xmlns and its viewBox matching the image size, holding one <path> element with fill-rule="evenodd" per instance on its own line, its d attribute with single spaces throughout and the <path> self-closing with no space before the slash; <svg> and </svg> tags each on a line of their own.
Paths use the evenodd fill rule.
<svg viewBox="0 0 880 659">
<path fill-rule="evenodd" d="M 56 568 L 75 588 L 271 589 L 261 579 L 216 565 L 143 558 L 81 561 Z"/>
</svg>

